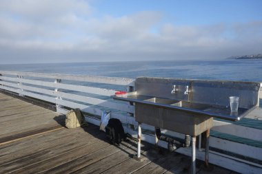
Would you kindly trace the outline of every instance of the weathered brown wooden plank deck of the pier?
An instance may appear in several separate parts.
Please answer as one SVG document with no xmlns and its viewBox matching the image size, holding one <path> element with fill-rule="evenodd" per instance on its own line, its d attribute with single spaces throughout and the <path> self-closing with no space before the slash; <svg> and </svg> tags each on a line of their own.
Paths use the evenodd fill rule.
<svg viewBox="0 0 262 174">
<path fill-rule="evenodd" d="M 190 173 L 190 157 L 142 143 L 138 162 L 134 140 L 114 146 L 97 126 L 66 129 L 63 122 L 54 111 L 0 93 L 0 173 Z M 198 173 L 234 173 L 197 166 Z"/>
</svg>

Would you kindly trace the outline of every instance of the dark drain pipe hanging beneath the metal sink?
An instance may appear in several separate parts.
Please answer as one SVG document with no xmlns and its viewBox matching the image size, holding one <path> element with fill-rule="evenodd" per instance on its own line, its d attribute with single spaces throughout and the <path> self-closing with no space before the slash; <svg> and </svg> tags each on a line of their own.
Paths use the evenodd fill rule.
<svg viewBox="0 0 262 174">
<path fill-rule="evenodd" d="M 175 140 L 174 138 L 166 137 L 165 135 L 161 134 L 161 129 L 159 127 L 155 127 L 155 133 L 158 140 L 162 140 L 168 142 L 168 150 L 175 151 L 180 147 L 188 147 L 190 146 L 190 135 L 185 135 L 184 142 L 179 140 Z"/>
</svg>

